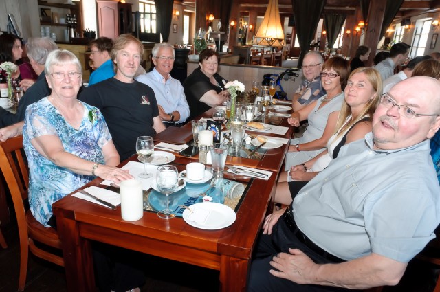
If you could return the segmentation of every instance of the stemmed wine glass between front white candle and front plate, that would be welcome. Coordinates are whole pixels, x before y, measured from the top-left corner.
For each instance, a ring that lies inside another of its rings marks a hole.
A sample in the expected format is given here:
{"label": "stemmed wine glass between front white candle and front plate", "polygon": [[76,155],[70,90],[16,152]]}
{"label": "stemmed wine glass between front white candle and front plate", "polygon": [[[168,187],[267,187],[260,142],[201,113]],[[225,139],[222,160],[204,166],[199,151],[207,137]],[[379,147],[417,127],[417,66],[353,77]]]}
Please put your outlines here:
{"label": "stemmed wine glass between front white candle and front plate", "polygon": [[168,206],[168,196],[177,188],[177,181],[179,181],[179,172],[175,166],[166,165],[157,168],[157,189],[166,196],[166,208],[157,212],[157,216],[162,219],[171,219],[176,216],[175,212],[170,210]]}

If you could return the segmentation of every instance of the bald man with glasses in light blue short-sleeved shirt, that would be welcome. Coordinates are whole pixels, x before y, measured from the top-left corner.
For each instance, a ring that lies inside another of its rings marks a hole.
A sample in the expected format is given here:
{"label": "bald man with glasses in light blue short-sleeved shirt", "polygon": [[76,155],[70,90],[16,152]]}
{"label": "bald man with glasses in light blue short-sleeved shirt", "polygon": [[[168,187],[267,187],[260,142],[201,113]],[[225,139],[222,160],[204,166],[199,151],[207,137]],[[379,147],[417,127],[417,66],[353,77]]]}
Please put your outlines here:
{"label": "bald man with glasses in light blue short-sleeved shirt", "polygon": [[429,155],[439,115],[434,78],[411,77],[382,95],[372,133],[342,147],[287,209],[265,218],[248,291],[397,284],[440,223]]}

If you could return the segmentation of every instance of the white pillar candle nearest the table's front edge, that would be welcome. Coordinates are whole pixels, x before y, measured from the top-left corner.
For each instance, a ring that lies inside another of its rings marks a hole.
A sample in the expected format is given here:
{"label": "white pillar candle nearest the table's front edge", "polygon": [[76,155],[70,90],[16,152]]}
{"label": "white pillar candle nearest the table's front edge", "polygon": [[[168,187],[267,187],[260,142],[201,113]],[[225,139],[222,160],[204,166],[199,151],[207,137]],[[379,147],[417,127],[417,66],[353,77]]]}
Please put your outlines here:
{"label": "white pillar candle nearest the table's front edge", "polygon": [[144,199],[142,183],[135,179],[127,179],[120,183],[121,213],[125,221],[136,221],[144,216]]}

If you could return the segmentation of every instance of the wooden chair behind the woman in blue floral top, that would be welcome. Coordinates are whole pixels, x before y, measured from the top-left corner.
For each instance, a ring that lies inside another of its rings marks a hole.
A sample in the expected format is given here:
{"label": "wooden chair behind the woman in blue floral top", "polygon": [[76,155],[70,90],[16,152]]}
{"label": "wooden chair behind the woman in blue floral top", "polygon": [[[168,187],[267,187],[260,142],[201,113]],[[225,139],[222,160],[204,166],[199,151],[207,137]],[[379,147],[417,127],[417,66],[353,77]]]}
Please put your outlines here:
{"label": "wooden chair behind the woman in blue floral top", "polygon": [[[23,291],[28,272],[29,249],[35,256],[43,258],[56,265],[64,267],[61,256],[52,254],[45,249],[37,247],[34,240],[48,247],[61,249],[61,240],[55,229],[46,228],[36,221],[30,210],[25,211],[25,203],[28,203],[29,175],[21,150],[23,149],[23,137],[8,139],[0,142],[0,168],[10,190],[17,214],[17,224],[20,236],[20,276],[19,291]],[[39,245],[41,246],[41,245]]]}

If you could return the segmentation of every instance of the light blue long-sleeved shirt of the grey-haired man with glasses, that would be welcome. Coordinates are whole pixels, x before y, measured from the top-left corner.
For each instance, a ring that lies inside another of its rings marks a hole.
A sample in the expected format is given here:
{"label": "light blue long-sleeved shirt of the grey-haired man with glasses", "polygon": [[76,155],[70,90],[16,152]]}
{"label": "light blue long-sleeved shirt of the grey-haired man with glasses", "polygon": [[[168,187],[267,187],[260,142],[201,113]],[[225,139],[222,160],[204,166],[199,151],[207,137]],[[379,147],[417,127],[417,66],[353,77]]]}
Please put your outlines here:
{"label": "light blue long-sleeved shirt of the grey-haired man with glasses", "polygon": [[185,122],[188,119],[190,106],[186,101],[184,87],[181,86],[179,80],[168,75],[168,79],[165,81],[164,76],[160,75],[156,68],[151,72],[137,76],[135,80],[153,89],[157,104],[162,106],[166,113],[173,111],[180,113],[180,120],[174,120],[173,122]]}

